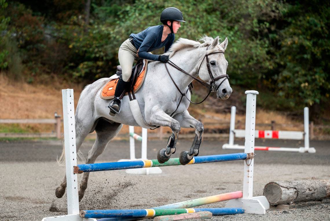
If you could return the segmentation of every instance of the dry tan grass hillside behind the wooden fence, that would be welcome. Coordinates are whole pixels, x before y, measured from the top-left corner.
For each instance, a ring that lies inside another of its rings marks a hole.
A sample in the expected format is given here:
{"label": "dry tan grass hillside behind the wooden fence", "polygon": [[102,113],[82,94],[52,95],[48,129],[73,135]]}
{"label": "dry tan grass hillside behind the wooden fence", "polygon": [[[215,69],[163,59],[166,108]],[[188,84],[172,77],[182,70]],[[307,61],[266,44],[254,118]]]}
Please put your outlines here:
{"label": "dry tan grass hillside behind the wooden fence", "polygon": [[[82,85],[67,85],[56,81],[51,85],[28,84],[25,82],[13,82],[4,75],[0,75],[0,119],[54,118],[54,112],[62,115],[61,89],[63,88],[74,89],[75,105],[77,105],[80,92],[83,88]],[[238,108],[238,110],[241,110],[238,111],[241,114],[237,114],[236,120],[240,120],[242,122],[241,125],[244,127],[244,106],[238,102],[239,95],[242,96],[240,92],[233,93],[231,98],[226,101],[220,101],[220,103],[215,98],[210,97],[207,103],[191,105],[189,107],[189,112],[196,119],[202,120],[206,129],[217,128],[217,123],[221,123],[221,127],[223,128],[229,128],[229,123],[226,122],[230,119],[230,112],[228,112],[230,106],[236,105],[239,107],[239,105],[241,105],[241,107]],[[243,96],[245,96],[244,93]],[[222,107],[221,105],[225,106]],[[224,112],[220,111],[221,108],[223,108]],[[269,127],[258,128],[258,123],[271,123],[271,120],[275,120],[276,123],[279,124],[298,123],[302,125],[302,122],[293,121],[289,117],[283,116],[281,113],[261,109],[257,111],[256,120],[257,129],[270,129]],[[26,132],[50,132],[53,129],[53,125],[45,124],[0,124],[0,132],[15,132],[20,130]],[[302,127],[286,129],[301,130]],[[167,128],[164,128],[164,131],[167,130]],[[127,133],[127,131],[128,129],[125,126],[121,133]],[[184,129],[182,133],[188,131],[193,132],[193,129]],[[154,133],[157,132],[157,130],[150,132]]]}

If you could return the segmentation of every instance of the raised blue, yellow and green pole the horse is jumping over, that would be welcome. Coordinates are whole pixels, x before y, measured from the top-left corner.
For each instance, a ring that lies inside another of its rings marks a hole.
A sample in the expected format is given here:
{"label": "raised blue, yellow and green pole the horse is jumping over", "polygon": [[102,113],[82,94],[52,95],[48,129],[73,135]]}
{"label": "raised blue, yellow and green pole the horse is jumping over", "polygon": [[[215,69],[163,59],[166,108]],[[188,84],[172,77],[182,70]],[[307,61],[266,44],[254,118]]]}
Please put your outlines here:
{"label": "raised blue, yellow and green pole the horse is jumping over", "polygon": [[[210,156],[198,156],[192,158],[188,164],[200,163],[213,163],[233,160],[246,160],[251,159],[250,153],[231,153],[219,154]],[[166,167],[181,165],[179,158],[169,159],[167,162],[160,164],[158,160],[137,160],[137,161],[124,161],[124,162],[111,162],[111,163],[96,163],[96,164],[79,164],[74,167],[74,173],[80,174],[83,172],[95,171],[109,171],[109,170],[125,170],[135,168],[149,168],[149,167]]]}

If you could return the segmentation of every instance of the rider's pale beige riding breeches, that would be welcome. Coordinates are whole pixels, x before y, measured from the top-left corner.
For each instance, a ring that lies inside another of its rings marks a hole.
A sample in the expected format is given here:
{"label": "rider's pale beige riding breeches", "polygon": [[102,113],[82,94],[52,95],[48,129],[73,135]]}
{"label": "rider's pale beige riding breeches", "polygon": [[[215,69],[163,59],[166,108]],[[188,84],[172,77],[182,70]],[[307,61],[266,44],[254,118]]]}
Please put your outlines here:
{"label": "rider's pale beige riding breeches", "polygon": [[131,78],[134,60],[139,58],[136,52],[137,49],[132,45],[129,39],[124,41],[119,47],[118,60],[122,69],[122,79],[126,82]]}

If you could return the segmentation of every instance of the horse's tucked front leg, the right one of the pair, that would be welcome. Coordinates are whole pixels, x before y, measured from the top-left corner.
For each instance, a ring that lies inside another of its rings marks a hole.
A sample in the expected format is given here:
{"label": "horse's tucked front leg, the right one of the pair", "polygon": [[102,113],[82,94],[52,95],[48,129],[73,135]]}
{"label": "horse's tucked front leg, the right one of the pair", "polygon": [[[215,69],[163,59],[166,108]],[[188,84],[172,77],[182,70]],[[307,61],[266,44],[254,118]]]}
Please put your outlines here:
{"label": "horse's tucked front leg, the right one of the pair", "polygon": [[194,156],[197,156],[199,153],[204,126],[202,122],[190,116],[187,110],[183,114],[175,116],[174,119],[177,119],[180,123],[180,126],[183,128],[195,128],[195,138],[189,151],[182,151],[180,153],[180,163],[182,165],[186,165]]}

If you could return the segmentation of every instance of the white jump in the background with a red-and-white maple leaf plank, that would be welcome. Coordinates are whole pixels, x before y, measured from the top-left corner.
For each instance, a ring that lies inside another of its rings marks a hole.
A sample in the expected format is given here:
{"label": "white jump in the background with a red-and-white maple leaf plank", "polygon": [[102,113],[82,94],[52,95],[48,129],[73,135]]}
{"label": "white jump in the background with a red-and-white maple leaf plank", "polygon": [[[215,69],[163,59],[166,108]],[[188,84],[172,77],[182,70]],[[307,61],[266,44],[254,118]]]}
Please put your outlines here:
{"label": "white jump in the background with a red-and-white maple leaf plank", "polygon": [[[255,146],[255,150],[268,151],[284,151],[284,152],[299,152],[299,153],[315,153],[314,147],[309,146],[309,110],[304,108],[304,131],[274,131],[274,130],[255,130],[255,138],[263,139],[286,139],[286,140],[305,140],[305,147],[269,147]],[[230,114],[230,132],[229,143],[223,144],[222,149],[244,149],[244,146],[234,144],[234,137],[244,138],[245,130],[235,129],[236,107],[231,107]],[[247,116],[248,117],[248,116]]]}

